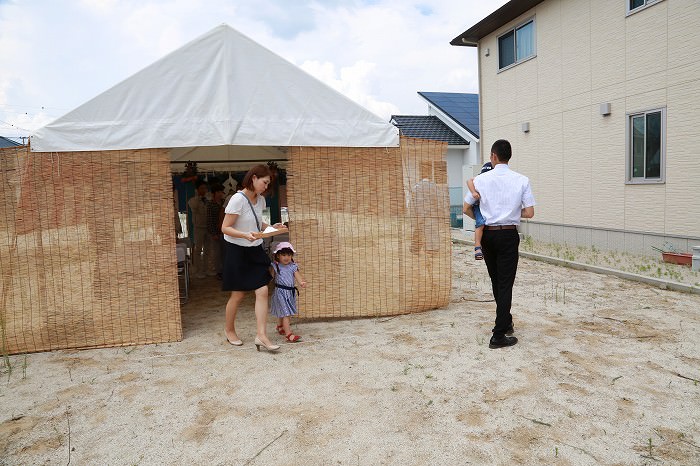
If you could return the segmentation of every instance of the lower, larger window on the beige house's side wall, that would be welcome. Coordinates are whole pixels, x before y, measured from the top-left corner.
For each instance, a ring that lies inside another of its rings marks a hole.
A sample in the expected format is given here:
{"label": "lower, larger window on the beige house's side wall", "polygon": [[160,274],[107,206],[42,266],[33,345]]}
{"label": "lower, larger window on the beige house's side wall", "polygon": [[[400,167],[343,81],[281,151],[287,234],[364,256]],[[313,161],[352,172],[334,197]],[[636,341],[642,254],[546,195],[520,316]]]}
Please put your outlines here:
{"label": "lower, larger window on the beige house's side wall", "polygon": [[666,109],[630,114],[627,122],[627,147],[628,182],[663,182],[666,162]]}

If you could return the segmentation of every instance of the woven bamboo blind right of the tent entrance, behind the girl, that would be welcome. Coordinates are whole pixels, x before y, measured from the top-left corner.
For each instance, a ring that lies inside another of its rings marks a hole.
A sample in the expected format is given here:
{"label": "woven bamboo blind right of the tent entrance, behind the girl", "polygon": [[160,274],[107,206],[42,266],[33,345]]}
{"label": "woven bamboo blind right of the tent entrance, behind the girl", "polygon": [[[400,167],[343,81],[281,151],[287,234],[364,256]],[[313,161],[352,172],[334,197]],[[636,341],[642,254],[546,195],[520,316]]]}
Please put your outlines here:
{"label": "woven bamboo blind right of the tent entrance, behind the girl", "polygon": [[294,147],[290,240],[309,282],[302,318],[388,316],[446,306],[451,279],[447,144]]}

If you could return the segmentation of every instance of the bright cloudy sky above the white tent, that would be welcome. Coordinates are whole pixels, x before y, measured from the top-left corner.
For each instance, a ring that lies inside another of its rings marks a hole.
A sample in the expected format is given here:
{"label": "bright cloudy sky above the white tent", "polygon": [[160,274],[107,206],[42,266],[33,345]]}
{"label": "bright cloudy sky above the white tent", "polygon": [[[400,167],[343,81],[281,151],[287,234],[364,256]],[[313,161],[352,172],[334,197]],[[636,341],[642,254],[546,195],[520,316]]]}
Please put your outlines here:
{"label": "bright cloudy sky above the white tent", "polygon": [[506,0],[0,0],[0,136],[28,136],[221,23],[378,116],[478,92],[450,40]]}

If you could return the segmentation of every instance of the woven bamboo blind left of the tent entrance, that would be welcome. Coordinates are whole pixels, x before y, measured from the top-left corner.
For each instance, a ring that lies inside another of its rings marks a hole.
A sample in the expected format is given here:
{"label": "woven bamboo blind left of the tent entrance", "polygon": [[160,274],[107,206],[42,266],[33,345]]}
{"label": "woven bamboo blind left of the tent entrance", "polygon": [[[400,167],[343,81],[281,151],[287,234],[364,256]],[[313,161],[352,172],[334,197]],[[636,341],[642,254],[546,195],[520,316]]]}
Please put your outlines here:
{"label": "woven bamboo blind left of the tent entrance", "polygon": [[0,150],[0,350],[182,339],[164,150]]}

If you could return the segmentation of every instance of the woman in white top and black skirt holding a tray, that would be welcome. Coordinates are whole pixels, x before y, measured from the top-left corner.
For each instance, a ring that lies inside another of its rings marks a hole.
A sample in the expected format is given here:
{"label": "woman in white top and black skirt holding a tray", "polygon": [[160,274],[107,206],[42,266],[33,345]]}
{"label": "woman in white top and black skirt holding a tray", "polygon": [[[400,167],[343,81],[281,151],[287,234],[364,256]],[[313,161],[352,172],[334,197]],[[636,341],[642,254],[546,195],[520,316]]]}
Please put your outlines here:
{"label": "woman in white top and black skirt holding a tray", "polygon": [[[226,340],[234,346],[243,345],[236,333],[236,313],[245,293],[254,291],[257,323],[255,345],[258,351],[260,346],[268,351],[280,348],[279,345],[273,345],[267,337],[267,284],[272,277],[269,271],[270,258],[262,248],[260,233],[269,226],[262,220],[265,209],[263,194],[272,178],[273,173],[267,165],[251,168],[243,178],[243,189],[234,194],[226,206],[221,226],[226,248],[222,289],[231,292],[226,303]],[[281,223],[273,226],[285,228]]]}

